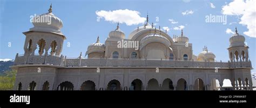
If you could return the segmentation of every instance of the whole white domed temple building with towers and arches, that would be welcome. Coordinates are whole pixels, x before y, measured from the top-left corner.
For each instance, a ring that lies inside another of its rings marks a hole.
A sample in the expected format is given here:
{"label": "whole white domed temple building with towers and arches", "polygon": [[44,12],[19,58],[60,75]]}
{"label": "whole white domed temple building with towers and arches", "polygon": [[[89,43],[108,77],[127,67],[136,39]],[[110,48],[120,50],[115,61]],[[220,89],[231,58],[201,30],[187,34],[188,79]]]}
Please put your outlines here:
{"label": "whole white domed temple building with towers and arches", "polygon": [[[35,22],[23,32],[24,54],[17,53],[12,66],[17,70],[14,90],[252,90],[249,47],[237,28],[226,46],[223,56],[230,60],[225,62],[217,62],[206,46],[194,55],[183,30],[171,37],[150,24],[148,17],[128,36],[118,24],[104,43],[96,37],[87,48],[87,58],[82,53],[69,58],[62,55],[66,39],[62,20],[52,14],[51,6],[41,16],[51,18],[51,24]],[[138,49],[119,48],[119,42],[132,46],[138,42]],[[223,87],[224,79],[232,86]]]}

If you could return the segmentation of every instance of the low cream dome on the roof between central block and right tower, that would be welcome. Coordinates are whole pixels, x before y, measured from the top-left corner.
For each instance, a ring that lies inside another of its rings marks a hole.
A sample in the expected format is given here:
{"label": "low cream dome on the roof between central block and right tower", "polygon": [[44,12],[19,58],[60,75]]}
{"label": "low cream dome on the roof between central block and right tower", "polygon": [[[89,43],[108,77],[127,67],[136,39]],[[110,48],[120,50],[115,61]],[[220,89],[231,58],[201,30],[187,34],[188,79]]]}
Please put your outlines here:
{"label": "low cream dome on the roof between central block and right tower", "polygon": [[214,62],[214,59],[215,59],[214,53],[212,53],[211,51],[208,51],[207,48],[205,50],[203,50],[202,52],[200,52],[197,56],[197,60],[199,60],[199,61],[210,60],[210,62]]}

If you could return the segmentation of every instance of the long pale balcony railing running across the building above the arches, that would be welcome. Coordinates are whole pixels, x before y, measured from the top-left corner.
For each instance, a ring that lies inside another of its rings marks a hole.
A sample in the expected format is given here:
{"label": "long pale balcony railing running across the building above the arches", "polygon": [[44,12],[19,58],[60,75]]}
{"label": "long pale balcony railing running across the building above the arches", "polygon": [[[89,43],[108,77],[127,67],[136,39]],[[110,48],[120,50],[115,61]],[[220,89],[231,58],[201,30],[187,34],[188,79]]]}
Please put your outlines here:
{"label": "long pale balcony railing running across the building above the arches", "polygon": [[99,67],[99,66],[147,66],[147,67],[190,67],[190,68],[251,68],[248,62],[198,62],[193,60],[167,59],[112,59],[112,58],[66,58],[50,55],[16,55],[15,65],[49,64],[64,67]]}

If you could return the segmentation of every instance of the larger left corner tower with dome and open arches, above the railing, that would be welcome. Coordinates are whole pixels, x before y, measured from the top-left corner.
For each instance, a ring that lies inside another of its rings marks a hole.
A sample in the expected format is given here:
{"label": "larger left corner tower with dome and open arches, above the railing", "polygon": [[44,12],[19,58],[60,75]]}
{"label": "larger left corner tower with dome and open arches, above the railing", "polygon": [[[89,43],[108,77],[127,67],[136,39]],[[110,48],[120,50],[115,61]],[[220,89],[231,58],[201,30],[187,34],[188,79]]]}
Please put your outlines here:
{"label": "larger left corner tower with dome and open arches, above the railing", "polygon": [[[66,37],[62,34],[62,20],[52,14],[52,6],[49,12],[32,18],[33,28],[23,32],[26,36],[24,43],[24,55],[48,55],[59,56],[62,52],[63,42]],[[35,52],[38,50],[38,52]]]}

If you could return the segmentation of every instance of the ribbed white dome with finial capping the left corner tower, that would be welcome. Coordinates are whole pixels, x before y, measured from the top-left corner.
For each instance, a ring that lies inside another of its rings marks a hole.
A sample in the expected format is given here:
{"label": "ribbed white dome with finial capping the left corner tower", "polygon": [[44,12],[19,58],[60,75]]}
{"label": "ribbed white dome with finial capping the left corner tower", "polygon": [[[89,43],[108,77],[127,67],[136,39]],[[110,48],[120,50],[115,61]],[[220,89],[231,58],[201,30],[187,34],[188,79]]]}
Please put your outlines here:
{"label": "ribbed white dome with finial capping the left corner tower", "polygon": [[[63,27],[62,20],[52,14],[52,6],[50,6],[49,12],[33,18],[34,27],[30,31],[45,31],[62,33],[60,29]],[[50,22],[48,22],[50,21]]]}

